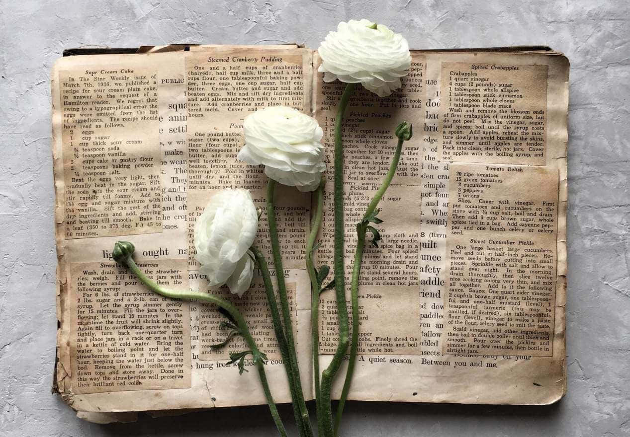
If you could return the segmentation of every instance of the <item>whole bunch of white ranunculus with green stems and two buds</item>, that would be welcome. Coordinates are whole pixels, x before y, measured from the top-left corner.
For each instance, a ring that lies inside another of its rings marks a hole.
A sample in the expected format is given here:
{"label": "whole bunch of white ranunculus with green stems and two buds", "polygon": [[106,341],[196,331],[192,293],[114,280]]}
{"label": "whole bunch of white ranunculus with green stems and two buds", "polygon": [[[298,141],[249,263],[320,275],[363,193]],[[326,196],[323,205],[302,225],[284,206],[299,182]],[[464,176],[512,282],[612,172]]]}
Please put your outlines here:
{"label": "whole bunch of white ranunculus with green stems and two buds", "polygon": [[[352,296],[352,332],[348,323],[346,307],[344,253],[344,209],[343,209],[343,143],[341,133],[343,115],[352,98],[356,84],[379,97],[389,96],[401,87],[411,65],[411,54],[407,41],[383,25],[377,25],[367,19],[350,20],[340,23],[337,31],[331,31],[319,47],[321,65],[319,72],[324,73],[324,80],[340,80],[347,86],[338,105],[335,123],[335,156],[333,169],[334,216],[335,216],[335,257],[334,279],[323,285],[330,268],[322,265],[317,268],[312,260],[316,250],[316,239],[323,218],[324,190],[324,148],[321,144],[323,130],[316,119],[284,106],[272,106],[249,114],[244,119],[244,146],[238,159],[251,165],[264,165],[269,178],[266,201],[266,214],[273,264],[277,272],[282,272],[282,256],[278,240],[278,228],[275,218],[275,187],[277,183],[296,187],[299,191],[316,191],[316,211],[313,214],[311,234],[306,245],[307,272],[311,279],[312,293],[312,365],[315,375],[316,411],[319,435],[332,437],[338,434],[341,414],[352,383],[352,375],[357,357],[358,344],[358,279],[367,233],[372,235],[372,244],[381,239],[375,224],[382,223],[377,217],[377,206],[391,183],[401,156],[404,141],[410,140],[411,124],[398,125],[394,135],[398,144],[392,157],[389,171],[382,180],[374,198],[370,202],[362,220],[357,223],[358,243],[353,263]],[[249,289],[254,268],[257,267],[263,277],[266,297],[272,314],[273,327],[277,337],[280,354],[287,370],[287,380],[293,400],[295,421],[302,437],[312,437],[313,431],[309,412],[302,394],[301,379],[297,366],[292,320],[289,311],[287,287],[283,275],[276,275],[278,299],[273,287],[270,272],[263,254],[253,246],[258,231],[261,212],[256,210],[251,195],[244,189],[224,189],[209,199],[203,214],[197,219],[194,230],[195,258],[200,263],[200,270],[205,274],[210,287],[227,285],[232,294],[243,296]],[[237,363],[239,372],[244,372],[244,360],[251,355],[258,370],[273,420],[280,435],[287,432],[273,402],[272,393],[265,376],[266,357],[258,349],[249,333],[243,316],[229,301],[215,296],[212,292],[193,292],[190,290],[167,290],[148,279],[134,262],[134,245],[128,241],[118,241],[113,250],[116,262],[129,268],[149,289],[162,296],[173,299],[197,299],[210,302],[219,307],[226,316],[223,326],[229,328],[229,334],[222,343],[214,345],[221,348],[235,335],[243,336],[248,350],[231,353],[231,363]],[[339,341],[331,363],[322,372],[318,363],[318,318],[319,294],[323,289],[335,288],[336,306],[339,314]],[[331,409],[331,388],[341,366],[343,357],[348,353],[349,363],[345,376],[341,399],[335,418]]]}

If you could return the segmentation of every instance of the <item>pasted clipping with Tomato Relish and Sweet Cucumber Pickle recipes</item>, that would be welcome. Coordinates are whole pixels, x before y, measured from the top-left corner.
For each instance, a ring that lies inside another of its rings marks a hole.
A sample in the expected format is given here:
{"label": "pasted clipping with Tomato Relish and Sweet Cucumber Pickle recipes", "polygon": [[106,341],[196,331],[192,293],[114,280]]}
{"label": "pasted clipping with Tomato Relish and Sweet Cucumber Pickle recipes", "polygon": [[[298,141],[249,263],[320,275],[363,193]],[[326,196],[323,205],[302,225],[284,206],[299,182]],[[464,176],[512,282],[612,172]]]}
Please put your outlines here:
{"label": "pasted clipping with Tomato Relish and Sweet Cucumber Pickle recipes", "polygon": [[449,180],[444,353],[551,357],[558,171],[457,164]]}

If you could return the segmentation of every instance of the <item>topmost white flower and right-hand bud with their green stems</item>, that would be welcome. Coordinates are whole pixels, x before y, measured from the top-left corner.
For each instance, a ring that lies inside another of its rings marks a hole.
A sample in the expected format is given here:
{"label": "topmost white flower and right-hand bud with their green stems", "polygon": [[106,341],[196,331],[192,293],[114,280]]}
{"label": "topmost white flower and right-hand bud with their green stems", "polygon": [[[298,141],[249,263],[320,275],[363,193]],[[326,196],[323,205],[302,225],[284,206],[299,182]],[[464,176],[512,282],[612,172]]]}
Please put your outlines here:
{"label": "topmost white flower and right-hand bud with their green stems", "polygon": [[[365,48],[369,47],[369,50]],[[377,25],[367,19],[350,20],[340,23],[337,31],[332,31],[321,43],[319,50],[321,65],[319,71],[324,73],[324,81],[339,79],[347,85],[337,107],[335,121],[335,296],[339,320],[339,340],[328,368],[322,372],[320,396],[318,401],[318,425],[321,435],[333,437],[338,434],[341,414],[350,390],[353,370],[357,356],[358,344],[358,274],[365,246],[367,231],[372,233],[372,243],[378,244],[381,238],[379,231],[370,223],[378,224],[376,206],[391,183],[400,158],[403,141],[411,139],[410,123],[401,123],[396,128],[398,147],[394,154],[389,172],[370,202],[364,218],[357,224],[358,245],[355,253],[352,279],[352,341],[348,338],[348,310],[345,300],[345,267],[344,267],[344,211],[343,211],[343,114],[346,111],[355,84],[360,83],[365,89],[379,97],[389,96],[402,86],[401,78],[408,74],[411,67],[411,53],[403,36],[393,33],[383,25]],[[333,424],[331,411],[331,389],[336,373],[350,343],[350,363],[343,387],[341,400]]]}

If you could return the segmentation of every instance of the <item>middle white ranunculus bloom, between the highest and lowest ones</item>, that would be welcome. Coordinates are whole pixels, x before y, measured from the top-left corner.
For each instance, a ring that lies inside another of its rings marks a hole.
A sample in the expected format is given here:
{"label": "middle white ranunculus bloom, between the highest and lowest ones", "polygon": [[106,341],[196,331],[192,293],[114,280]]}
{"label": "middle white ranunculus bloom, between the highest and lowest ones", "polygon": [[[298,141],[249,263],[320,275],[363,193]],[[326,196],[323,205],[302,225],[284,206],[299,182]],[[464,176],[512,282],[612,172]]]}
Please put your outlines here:
{"label": "middle white ranunculus bloom, between the highest and lowest ones", "polygon": [[326,170],[316,119],[287,106],[268,106],[243,122],[245,145],[237,159],[265,165],[265,174],[280,184],[313,191]]}

